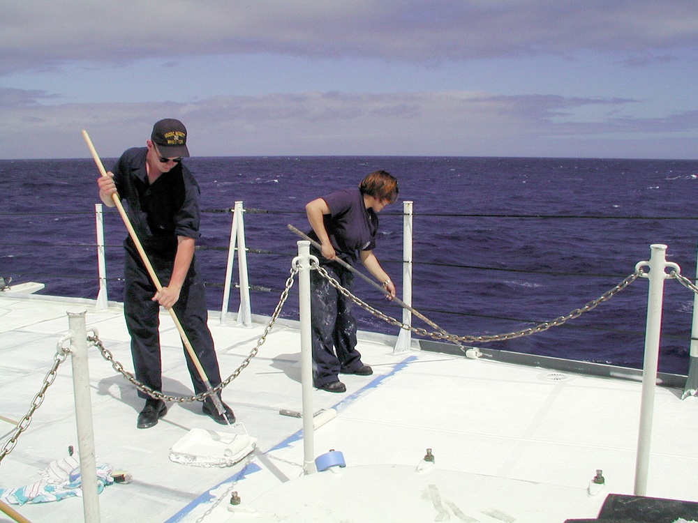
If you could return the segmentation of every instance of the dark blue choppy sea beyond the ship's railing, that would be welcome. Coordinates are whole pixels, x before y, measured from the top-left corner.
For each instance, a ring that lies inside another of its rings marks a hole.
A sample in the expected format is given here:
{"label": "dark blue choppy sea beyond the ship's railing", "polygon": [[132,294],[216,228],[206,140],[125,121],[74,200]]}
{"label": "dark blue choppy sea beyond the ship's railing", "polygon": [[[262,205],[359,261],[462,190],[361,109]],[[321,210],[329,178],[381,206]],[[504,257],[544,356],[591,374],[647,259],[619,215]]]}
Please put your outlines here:
{"label": "dark blue choppy sea beyond the ship's railing", "polygon": [[[109,169],[114,159],[105,159]],[[519,331],[580,308],[649,259],[651,243],[695,278],[698,161],[559,158],[191,158],[202,190],[197,256],[210,310],[221,310],[232,214],[241,200],[252,310],[271,314],[288,278],[304,206],[387,169],[400,201],[380,214],[376,255],[399,287],[402,203],[414,202],[413,306],[456,335]],[[96,298],[94,162],[0,160],[0,276],[46,285],[40,294]],[[121,301],[119,214],[105,209],[109,299]],[[237,261],[236,261],[237,267]],[[237,281],[237,275],[235,276]],[[641,367],[648,280],[544,333],[484,345],[545,356]],[[268,289],[268,290],[267,290]],[[297,285],[282,316],[297,318]],[[660,370],[686,374],[692,292],[667,280]],[[393,317],[364,282],[356,294]],[[232,291],[229,310],[237,311]],[[396,333],[358,311],[360,328]],[[0,321],[3,321],[0,319]],[[425,326],[415,319],[416,326]]]}

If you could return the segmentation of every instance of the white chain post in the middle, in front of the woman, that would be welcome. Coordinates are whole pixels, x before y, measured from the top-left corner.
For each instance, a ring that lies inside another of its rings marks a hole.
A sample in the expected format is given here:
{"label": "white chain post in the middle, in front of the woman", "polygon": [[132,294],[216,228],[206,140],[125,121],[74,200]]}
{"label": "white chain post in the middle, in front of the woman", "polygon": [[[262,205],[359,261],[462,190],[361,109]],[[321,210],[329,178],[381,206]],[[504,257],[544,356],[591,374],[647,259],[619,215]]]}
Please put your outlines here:
{"label": "white chain post in the middle, in front of the woman", "polygon": [[[317,472],[315,468],[315,435],[313,424],[313,342],[311,340],[310,301],[310,242],[297,242],[298,257],[294,259],[298,271],[298,312],[301,328],[301,384],[303,395],[303,472]],[[317,261],[317,259],[315,259]]]}

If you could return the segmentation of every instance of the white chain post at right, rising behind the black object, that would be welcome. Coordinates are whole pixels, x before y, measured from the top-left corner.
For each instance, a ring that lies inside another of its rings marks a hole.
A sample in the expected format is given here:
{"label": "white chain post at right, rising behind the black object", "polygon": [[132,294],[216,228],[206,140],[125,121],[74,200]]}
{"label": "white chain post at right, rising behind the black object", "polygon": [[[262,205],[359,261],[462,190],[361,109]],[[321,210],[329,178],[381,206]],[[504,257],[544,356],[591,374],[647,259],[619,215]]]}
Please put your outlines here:
{"label": "white chain post at right, rising behind the black object", "polygon": [[645,353],[642,367],[642,398],[640,404],[640,421],[637,437],[637,460],[635,463],[634,494],[645,496],[647,492],[647,474],[649,469],[650,444],[652,437],[652,418],[654,414],[655,389],[659,367],[660,335],[662,333],[662,303],[664,301],[664,280],[671,278],[664,272],[667,267],[681,273],[681,268],[667,262],[667,245],[654,243],[650,245],[650,261],[640,261],[635,270],[648,266],[649,272],[642,273],[648,278],[647,321],[645,328]]}

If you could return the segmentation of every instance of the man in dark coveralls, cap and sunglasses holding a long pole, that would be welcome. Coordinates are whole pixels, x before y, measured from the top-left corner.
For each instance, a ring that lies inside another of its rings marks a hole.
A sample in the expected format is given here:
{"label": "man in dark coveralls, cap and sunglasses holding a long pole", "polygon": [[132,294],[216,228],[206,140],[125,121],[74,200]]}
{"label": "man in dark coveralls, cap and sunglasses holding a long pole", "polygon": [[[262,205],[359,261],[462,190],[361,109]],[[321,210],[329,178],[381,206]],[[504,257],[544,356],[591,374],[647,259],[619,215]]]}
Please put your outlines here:
{"label": "man in dark coveralls, cap and sunglasses holding a long pole", "polygon": [[[162,391],[162,363],[159,310],[174,308],[188,340],[198,356],[211,386],[221,383],[214,342],[207,326],[204,284],[194,255],[200,236],[200,189],[189,169],[181,163],[188,157],[186,128],[179,120],[158,121],[145,147],[128,149],[108,176],[98,179],[99,197],[113,207],[112,195],[118,193],[126,202],[133,224],[148,258],[161,281],[157,291],[135,244],[129,236],[124,241],[124,315],[131,335],[131,355],[138,381]],[[207,390],[191,358],[185,351],[194,391]],[[168,407],[138,391],[145,407],[138,415],[138,428],[156,425]],[[218,423],[233,423],[235,416],[223,404],[225,416],[218,414],[213,400],[207,397],[204,414]],[[225,418],[228,418],[226,421]]]}

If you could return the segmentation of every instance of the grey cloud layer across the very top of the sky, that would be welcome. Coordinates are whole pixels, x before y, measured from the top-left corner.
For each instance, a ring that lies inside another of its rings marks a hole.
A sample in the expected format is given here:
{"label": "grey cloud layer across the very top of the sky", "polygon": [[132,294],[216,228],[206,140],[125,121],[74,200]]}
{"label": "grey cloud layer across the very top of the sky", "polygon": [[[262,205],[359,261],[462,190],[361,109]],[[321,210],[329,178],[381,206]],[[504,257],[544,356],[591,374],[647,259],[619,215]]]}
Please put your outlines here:
{"label": "grey cloud layer across the very top of the sky", "polygon": [[274,53],[414,62],[695,46],[684,0],[26,0],[3,6],[0,74],[74,61]]}

